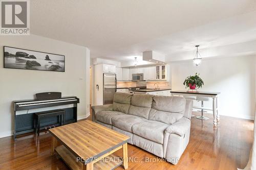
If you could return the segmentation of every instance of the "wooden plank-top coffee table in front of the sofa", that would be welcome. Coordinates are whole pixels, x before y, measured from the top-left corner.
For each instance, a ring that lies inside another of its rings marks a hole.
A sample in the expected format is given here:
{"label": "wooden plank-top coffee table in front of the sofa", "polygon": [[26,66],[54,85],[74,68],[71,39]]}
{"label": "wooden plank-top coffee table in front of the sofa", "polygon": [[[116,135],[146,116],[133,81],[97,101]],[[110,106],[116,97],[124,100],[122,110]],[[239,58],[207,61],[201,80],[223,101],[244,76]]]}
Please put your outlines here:
{"label": "wooden plank-top coffee table in front of the sofa", "polygon": [[[128,168],[127,140],[129,136],[101,126],[91,120],[56,127],[52,134],[52,150],[71,169],[114,169],[123,164]],[[113,155],[123,149],[123,158]]]}

